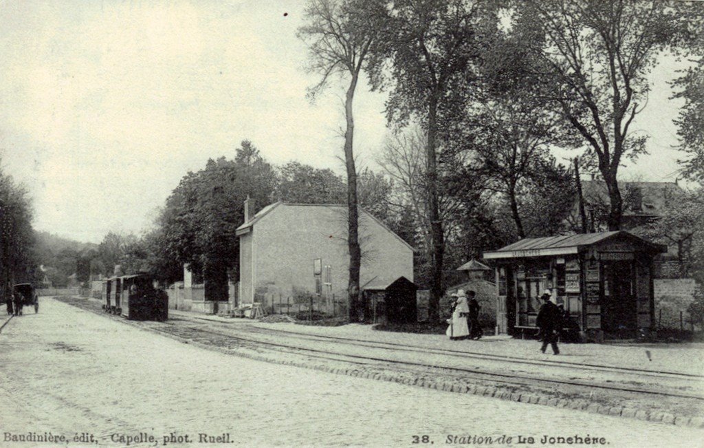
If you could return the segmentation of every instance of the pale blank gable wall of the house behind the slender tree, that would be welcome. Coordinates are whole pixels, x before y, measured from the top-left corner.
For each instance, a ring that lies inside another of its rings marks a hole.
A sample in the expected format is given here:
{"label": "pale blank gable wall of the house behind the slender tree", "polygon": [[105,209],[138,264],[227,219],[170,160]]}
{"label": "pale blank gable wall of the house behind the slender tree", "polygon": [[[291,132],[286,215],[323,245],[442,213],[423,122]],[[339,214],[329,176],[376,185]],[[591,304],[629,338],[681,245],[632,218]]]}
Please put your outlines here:
{"label": "pale blank gable wall of the house behind the slender tree", "polygon": [[[332,289],[326,292],[324,286],[324,294],[344,297],[349,266],[346,225],[343,206],[277,206],[253,226],[254,290],[244,287],[248,273],[241,268],[243,303],[256,292],[283,297],[292,297],[294,290],[315,292],[314,259],[322,260],[323,280],[325,266],[331,266]],[[251,259],[244,240],[249,235],[240,242],[241,266]],[[401,275],[413,281],[413,250],[366,212],[360,214],[360,243],[360,285],[375,277],[395,280]]]}

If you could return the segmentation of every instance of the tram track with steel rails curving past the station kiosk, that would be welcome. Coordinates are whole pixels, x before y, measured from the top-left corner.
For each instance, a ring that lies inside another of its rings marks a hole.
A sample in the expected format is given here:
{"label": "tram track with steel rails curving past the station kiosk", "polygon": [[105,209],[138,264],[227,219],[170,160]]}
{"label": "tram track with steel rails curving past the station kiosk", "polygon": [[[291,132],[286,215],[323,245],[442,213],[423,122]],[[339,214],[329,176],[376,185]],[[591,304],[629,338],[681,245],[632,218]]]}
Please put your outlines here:
{"label": "tram track with steel rails curving past the station kiosk", "polygon": [[[65,301],[65,300],[64,300]],[[124,318],[112,316],[103,313],[95,304],[86,302],[65,301],[65,303],[79,306],[87,311],[98,313],[106,318],[113,318],[118,321],[124,321]],[[628,385],[615,384],[603,381],[585,381],[576,378],[546,378],[543,373],[536,375],[527,373],[515,373],[508,370],[491,371],[481,367],[463,368],[459,366],[451,366],[443,362],[424,362],[393,359],[391,356],[384,354],[372,354],[370,351],[384,351],[388,354],[396,354],[398,352],[416,352],[417,354],[437,355],[443,354],[453,359],[471,359],[479,361],[496,361],[503,363],[511,363],[512,365],[524,365],[531,367],[548,367],[565,369],[569,368],[572,371],[598,371],[601,373],[613,373],[620,375],[636,375],[647,376],[648,378],[658,378],[660,380],[679,380],[684,382],[698,382],[700,385],[703,375],[693,375],[687,373],[677,373],[669,371],[648,371],[645,369],[636,368],[612,368],[609,366],[599,366],[595,364],[572,363],[569,361],[548,361],[548,360],[527,360],[517,356],[489,355],[477,354],[465,351],[455,351],[451,349],[428,349],[427,347],[408,346],[405,344],[395,344],[387,342],[376,342],[368,340],[354,340],[346,337],[327,337],[317,335],[301,335],[298,332],[289,332],[286,330],[264,329],[257,328],[251,325],[246,327],[246,330],[234,328],[228,323],[218,323],[202,318],[172,318],[163,323],[157,322],[132,322],[133,325],[143,328],[149,328],[156,332],[161,332],[165,335],[173,335],[185,340],[193,340],[201,344],[224,347],[228,349],[237,349],[239,347],[251,349],[267,349],[270,351],[283,351],[290,354],[302,354],[313,359],[325,359],[332,361],[344,361],[365,368],[390,368],[394,371],[405,371],[410,373],[421,373],[423,375],[432,375],[441,373],[450,375],[456,378],[469,380],[481,380],[486,382],[496,382],[504,385],[515,386],[530,386],[530,387],[547,387],[556,389],[560,387],[576,387],[586,391],[598,392],[620,392],[624,394],[647,394],[648,396],[672,398],[672,399],[691,399],[697,403],[704,401],[704,395],[696,392],[688,392],[685,390],[667,390],[660,382],[655,382],[652,387],[644,387],[643,385]],[[280,335],[287,335],[288,340],[296,339],[298,342],[314,342],[316,344],[335,344],[336,348],[340,347],[363,347],[369,351],[366,354],[344,353],[335,349],[326,349],[322,347],[303,347],[301,344],[287,343],[280,341]],[[267,340],[267,338],[276,338],[278,340]],[[591,393],[591,392],[589,392]]]}

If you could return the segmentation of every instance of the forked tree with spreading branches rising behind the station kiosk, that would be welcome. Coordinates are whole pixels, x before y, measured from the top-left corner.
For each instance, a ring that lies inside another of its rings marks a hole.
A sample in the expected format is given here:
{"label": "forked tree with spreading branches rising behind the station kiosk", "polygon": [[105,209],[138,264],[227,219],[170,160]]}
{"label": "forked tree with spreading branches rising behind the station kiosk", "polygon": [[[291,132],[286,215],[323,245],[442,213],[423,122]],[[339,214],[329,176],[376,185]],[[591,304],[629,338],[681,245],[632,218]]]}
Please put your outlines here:
{"label": "forked tree with spreading branches rising behind the station kiosk", "polygon": [[[685,2],[682,2],[683,4]],[[656,57],[677,46],[686,18],[677,2],[661,0],[528,0],[513,30],[541,61],[562,116],[596,155],[608,188],[608,227],[620,228],[617,182],[625,156],[646,151],[646,137],[629,132],[648,99]]]}

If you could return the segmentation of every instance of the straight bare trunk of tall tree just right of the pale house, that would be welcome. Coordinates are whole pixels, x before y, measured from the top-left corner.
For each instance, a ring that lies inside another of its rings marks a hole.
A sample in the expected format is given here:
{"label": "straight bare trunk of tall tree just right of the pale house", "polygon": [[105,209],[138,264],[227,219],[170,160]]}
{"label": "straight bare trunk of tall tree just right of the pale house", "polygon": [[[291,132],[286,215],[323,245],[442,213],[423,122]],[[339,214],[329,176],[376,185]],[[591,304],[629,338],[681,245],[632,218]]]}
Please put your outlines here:
{"label": "straight bare trunk of tall tree just right of the pale house", "polygon": [[445,254],[445,241],[443,225],[440,220],[438,173],[436,162],[437,138],[437,103],[438,95],[434,93],[429,100],[428,108],[428,139],[425,147],[426,176],[427,176],[427,201],[428,220],[430,223],[432,278],[430,285],[430,300],[428,303],[428,318],[430,322],[439,321],[440,297],[444,294],[442,285],[443,257]]}

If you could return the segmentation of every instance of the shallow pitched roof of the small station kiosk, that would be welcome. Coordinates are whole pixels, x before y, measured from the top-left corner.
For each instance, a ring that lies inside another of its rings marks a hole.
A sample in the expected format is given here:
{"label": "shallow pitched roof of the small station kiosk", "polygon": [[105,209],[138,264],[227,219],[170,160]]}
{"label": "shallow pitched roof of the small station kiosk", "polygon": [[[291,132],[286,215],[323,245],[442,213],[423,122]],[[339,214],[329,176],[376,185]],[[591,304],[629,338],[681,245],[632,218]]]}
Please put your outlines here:
{"label": "shallow pitched roof of the small station kiosk", "polygon": [[662,244],[653,244],[646,239],[636,237],[624,230],[612,232],[580,233],[577,235],[558,235],[555,237],[524,238],[496,251],[484,252],[485,259],[526,258],[529,256],[546,256],[577,254],[579,249],[603,242],[616,236],[631,239],[653,251],[664,251]]}

